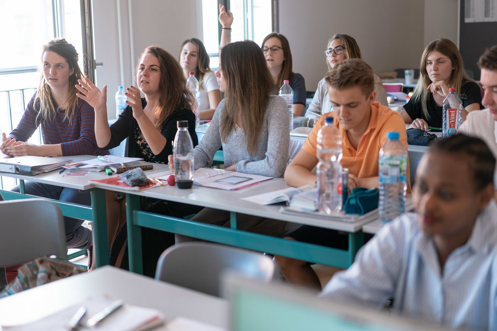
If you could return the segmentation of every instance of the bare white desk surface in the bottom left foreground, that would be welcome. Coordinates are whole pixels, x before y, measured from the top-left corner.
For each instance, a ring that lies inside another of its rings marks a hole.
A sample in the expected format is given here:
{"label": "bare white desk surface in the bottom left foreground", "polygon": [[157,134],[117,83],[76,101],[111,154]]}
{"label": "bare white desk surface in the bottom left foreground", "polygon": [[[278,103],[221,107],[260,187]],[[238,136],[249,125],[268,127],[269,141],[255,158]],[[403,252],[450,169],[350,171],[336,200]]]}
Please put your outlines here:
{"label": "bare white desk surface in the bottom left foreground", "polygon": [[0,299],[0,325],[33,322],[103,294],[125,303],[158,309],[166,321],[182,316],[228,330],[228,302],[225,299],[112,266]]}

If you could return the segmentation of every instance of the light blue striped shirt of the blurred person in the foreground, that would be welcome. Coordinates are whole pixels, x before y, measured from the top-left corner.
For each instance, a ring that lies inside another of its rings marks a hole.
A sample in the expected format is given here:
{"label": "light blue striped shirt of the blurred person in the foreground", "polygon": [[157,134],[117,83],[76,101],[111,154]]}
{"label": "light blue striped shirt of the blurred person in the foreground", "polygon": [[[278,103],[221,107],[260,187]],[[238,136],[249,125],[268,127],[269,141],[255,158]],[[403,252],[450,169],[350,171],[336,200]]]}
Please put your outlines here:
{"label": "light blue striped shirt of the blurred person in the foreground", "polygon": [[433,240],[417,226],[417,215],[385,225],[347,270],[336,273],[322,297],[383,307],[394,298],[403,315],[450,328],[497,328],[497,205],[479,214],[468,242],[440,270]]}

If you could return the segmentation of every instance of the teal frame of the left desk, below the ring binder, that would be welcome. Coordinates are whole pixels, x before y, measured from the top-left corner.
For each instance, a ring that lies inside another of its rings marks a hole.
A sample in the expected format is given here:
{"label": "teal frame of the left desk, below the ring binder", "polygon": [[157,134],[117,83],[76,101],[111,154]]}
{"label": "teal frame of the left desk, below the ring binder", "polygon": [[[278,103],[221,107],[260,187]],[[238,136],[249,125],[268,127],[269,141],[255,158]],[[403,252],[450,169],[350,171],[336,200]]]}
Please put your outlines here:
{"label": "teal frame of the left desk, below the ring binder", "polygon": [[[33,178],[34,179],[34,178]],[[29,196],[24,193],[24,180],[19,179],[21,193],[0,190],[0,195],[4,200],[40,198]],[[64,216],[93,221],[93,238],[95,247],[96,266],[109,264],[109,243],[107,239],[107,214],[105,207],[105,191],[98,188],[87,190],[91,194],[91,206],[69,203],[54,199],[46,199],[55,202],[62,210]],[[86,192],[86,191],[84,191]],[[41,198],[44,199],[44,198]],[[72,254],[70,259],[83,255],[77,252]]]}

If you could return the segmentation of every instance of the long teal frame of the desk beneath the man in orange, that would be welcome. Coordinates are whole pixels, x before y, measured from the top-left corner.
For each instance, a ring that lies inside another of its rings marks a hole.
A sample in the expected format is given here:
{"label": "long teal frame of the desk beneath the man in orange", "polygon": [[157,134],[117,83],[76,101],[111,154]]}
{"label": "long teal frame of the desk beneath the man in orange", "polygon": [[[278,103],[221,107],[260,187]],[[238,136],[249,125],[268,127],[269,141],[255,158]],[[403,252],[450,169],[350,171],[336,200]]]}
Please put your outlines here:
{"label": "long teal frame of the desk beneath the man in orange", "polygon": [[231,212],[231,227],[227,228],[140,211],[140,196],[133,192],[126,192],[126,214],[129,266],[137,273],[143,273],[142,227],[340,268],[353,263],[364,243],[361,230],[348,234],[349,247],[344,251],[237,230],[235,212]]}

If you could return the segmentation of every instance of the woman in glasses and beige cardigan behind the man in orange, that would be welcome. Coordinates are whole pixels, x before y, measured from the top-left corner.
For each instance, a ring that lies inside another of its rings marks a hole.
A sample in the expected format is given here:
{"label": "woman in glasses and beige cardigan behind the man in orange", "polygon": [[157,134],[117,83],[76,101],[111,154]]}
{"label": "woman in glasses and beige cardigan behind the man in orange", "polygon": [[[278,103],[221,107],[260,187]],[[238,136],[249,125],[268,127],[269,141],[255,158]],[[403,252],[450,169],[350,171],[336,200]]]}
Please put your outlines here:
{"label": "woman in glasses and beige cardigan behind the man in orange", "polygon": [[[354,38],[346,34],[335,34],[328,41],[328,49],[325,51],[327,56],[326,64],[328,69],[336,66],[337,63],[345,59],[360,59],[361,51]],[[384,106],[388,106],[387,93],[385,87],[381,83],[380,77],[374,75],[374,91],[376,92],[376,99]],[[310,119],[309,125],[313,126],[314,121],[317,120],[322,114],[333,111],[330,98],[328,97],[328,88],[326,87],[325,78],[321,79],[318,83],[318,88],[314,94],[314,98],[309,105],[306,112],[306,117]]]}

